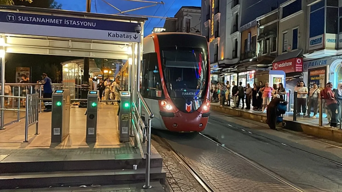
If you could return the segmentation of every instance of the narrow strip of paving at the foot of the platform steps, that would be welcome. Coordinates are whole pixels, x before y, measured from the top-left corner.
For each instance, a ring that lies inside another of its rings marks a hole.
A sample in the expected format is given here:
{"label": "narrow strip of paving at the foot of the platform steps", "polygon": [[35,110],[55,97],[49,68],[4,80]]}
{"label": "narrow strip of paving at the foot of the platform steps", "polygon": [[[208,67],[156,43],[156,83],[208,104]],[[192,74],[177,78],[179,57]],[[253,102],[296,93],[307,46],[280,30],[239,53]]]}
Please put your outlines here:
{"label": "narrow strip of paving at the foot of the platform steps", "polygon": [[0,190],[0,192],[163,192],[165,188],[159,182],[151,182],[151,189],[143,189],[144,183],[122,184],[115,186],[82,186],[82,187],[59,187],[43,189],[13,189]]}

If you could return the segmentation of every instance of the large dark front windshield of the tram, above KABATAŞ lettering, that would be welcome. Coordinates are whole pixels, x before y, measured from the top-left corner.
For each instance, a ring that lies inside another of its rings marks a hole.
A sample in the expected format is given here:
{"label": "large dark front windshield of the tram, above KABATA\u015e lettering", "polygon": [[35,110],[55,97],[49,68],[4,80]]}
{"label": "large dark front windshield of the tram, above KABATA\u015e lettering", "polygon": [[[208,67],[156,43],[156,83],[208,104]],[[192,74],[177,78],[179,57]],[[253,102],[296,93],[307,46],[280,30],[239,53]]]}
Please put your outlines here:
{"label": "large dark front windshield of the tram, above KABATA\u015e lettering", "polygon": [[189,47],[162,49],[162,68],[171,98],[202,99],[206,95],[208,50]]}

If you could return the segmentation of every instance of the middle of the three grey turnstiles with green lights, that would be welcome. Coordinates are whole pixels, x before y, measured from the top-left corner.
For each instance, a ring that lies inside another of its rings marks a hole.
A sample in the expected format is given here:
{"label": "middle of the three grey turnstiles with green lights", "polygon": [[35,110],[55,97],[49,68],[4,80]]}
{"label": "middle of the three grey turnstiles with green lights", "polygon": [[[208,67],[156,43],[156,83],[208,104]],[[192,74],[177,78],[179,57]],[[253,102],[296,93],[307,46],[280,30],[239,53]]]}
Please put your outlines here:
{"label": "middle of the three grey turnstiles with green lights", "polygon": [[96,142],[98,91],[88,91],[86,142]]}

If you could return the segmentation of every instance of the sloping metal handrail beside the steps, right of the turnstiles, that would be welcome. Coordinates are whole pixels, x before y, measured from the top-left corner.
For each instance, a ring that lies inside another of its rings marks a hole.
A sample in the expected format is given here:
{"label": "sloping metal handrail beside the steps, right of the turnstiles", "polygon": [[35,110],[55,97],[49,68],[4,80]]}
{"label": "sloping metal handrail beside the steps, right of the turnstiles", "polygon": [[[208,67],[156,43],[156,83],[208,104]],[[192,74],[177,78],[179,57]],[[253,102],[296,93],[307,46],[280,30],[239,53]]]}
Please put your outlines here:
{"label": "sloping metal handrail beside the steps, right of the turnstiles", "polygon": [[[140,153],[142,154],[142,158],[144,158],[142,143],[146,142],[146,176],[145,176],[145,189],[149,189],[150,186],[150,154],[151,154],[151,122],[154,117],[152,111],[147,106],[146,101],[143,96],[136,92],[137,94],[137,104],[132,102],[132,125],[134,129],[135,139],[134,139],[134,147],[139,148]],[[145,125],[144,121],[141,118],[141,110],[144,110],[148,114],[147,125]]]}

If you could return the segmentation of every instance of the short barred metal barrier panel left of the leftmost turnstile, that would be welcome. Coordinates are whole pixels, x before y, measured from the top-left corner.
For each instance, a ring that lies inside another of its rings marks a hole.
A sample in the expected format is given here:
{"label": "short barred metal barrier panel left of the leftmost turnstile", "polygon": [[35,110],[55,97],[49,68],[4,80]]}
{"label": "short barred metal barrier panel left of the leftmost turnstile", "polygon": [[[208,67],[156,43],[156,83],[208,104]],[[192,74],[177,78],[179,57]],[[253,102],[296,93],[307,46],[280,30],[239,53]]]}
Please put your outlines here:
{"label": "short barred metal barrier panel left of the leftmost turnstile", "polygon": [[36,125],[36,133],[38,135],[38,102],[39,102],[39,94],[27,94],[26,95],[26,112],[25,112],[25,140],[24,142],[28,142],[28,127],[31,125]]}

